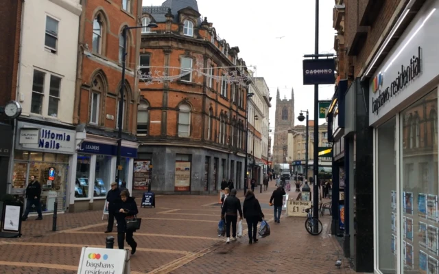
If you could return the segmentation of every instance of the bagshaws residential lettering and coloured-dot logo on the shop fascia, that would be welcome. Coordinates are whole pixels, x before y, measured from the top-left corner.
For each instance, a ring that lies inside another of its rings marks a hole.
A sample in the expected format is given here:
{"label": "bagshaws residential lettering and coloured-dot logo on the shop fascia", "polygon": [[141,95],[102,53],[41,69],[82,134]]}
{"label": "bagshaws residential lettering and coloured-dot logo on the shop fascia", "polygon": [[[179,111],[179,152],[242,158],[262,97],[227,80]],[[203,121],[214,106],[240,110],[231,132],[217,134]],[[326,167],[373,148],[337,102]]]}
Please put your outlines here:
{"label": "bagshaws residential lettering and coloured-dot logo on the shop fascia", "polygon": [[386,85],[383,85],[385,78],[381,72],[372,80],[372,113],[378,115],[379,110],[385,106],[385,104],[393,100],[393,98],[396,98],[401,91],[420,76],[422,71],[420,50],[420,47],[418,47],[416,55],[413,55],[410,60],[407,60],[405,65],[401,65],[401,69],[396,78],[391,79],[390,82],[386,82]]}

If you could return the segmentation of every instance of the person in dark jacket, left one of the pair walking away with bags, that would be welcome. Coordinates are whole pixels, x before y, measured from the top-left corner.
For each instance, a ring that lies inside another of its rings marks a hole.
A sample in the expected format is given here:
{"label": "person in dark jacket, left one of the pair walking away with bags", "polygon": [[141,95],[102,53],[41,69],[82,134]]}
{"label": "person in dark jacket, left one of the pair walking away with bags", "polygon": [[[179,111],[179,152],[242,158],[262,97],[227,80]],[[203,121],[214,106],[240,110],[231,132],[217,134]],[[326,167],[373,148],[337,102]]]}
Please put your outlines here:
{"label": "person in dark jacket, left one of the pair walking away with bags", "polygon": [[230,242],[230,225],[232,225],[232,240],[236,240],[236,223],[238,221],[238,212],[239,212],[239,220],[242,220],[242,210],[241,210],[241,201],[236,197],[236,190],[231,190],[230,195],[224,200],[224,204],[222,205],[221,218],[224,219],[226,217],[226,244]]}

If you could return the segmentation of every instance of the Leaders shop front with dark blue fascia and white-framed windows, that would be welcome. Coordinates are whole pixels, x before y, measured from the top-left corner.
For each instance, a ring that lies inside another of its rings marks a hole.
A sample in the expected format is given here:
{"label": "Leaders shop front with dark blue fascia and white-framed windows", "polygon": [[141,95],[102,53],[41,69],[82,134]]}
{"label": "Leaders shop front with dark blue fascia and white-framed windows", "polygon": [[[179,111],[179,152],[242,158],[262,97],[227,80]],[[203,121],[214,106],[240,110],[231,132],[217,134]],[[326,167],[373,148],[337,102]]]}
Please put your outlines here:
{"label": "Leaders shop front with dark blue fascia and white-framed windows", "polygon": [[[119,185],[126,182],[132,190],[134,158],[139,144],[122,141],[121,176]],[[117,144],[115,139],[88,135],[79,145],[73,163],[74,183],[71,185],[69,212],[104,209],[110,183],[116,180]],[[135,171],[135,170],[134,170]]]}

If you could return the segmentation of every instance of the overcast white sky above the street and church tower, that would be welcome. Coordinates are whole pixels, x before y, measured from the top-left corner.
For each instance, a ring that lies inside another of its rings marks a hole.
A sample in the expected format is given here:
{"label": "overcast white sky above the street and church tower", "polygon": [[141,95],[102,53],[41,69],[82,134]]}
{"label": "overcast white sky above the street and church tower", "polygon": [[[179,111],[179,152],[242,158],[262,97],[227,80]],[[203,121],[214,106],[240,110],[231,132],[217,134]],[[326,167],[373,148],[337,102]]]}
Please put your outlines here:
{"label": "overcast white sky above the street and church tower", "polygon": [[[143,0],[143,5],[161,5],[165,0]],[[334,1],[320,0],[319,53],[334,53]],[[295,115],[309,110],[313,119],[314,87],[304,86],[302,60],[314,53],[315,1],[305,0],[198,0],[202,17],[213,23],[219,37],[230,47],[239,47],[246,65],[257,67],[256,76],[265,78],[272,96],[270,129],[274,133],[276,89],[281,98],[291,98],[294,88]],[[281,39],[276,37],[285,36]],[[333,84],[320,85],[319,100],[331,99]],[[322,124],[324,119],[320,119]],[[298,122],[296,124],[305,124]],[[270,135],[273,135],[270,133]]]}

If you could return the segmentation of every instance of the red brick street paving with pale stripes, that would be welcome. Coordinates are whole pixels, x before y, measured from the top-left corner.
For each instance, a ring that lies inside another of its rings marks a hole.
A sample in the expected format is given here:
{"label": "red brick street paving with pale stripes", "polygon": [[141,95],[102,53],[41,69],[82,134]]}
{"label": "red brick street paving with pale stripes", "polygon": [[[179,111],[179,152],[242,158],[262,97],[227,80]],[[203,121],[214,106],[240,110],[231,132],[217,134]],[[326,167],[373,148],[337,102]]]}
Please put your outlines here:
{"label": "red brick street paving with pale stripes", "polygon": [[[267,192],[255,190],[268,220],[273,217],[268,206],[272,190],[274,181]],[[238,192],[240,198],[242,194]],[[290,195],[294,198],[296,192]],[[346,260],[341,269],[334,265],[342,251],[328,235],[330,217],[322,218],[320,236],[305,231],[303,218],[283,216],[280,224],[269,222],[271,235],[257,244],[248,245],[244,229],[243,238],[226,245],[224,238],[217,237],[218,196],[157,196],[156,200],[156,208],[140,209],[143,220],[134,234],[139,247],[131,258],[133,274],[351,273]],[[100,211],[59,214],[56,232],[51,231],[51,216],[42,221],[29,218],[23,222],[22,238],[0,239],[0,273],[77,273],[81,247],[104,247],[105,229]]]}

